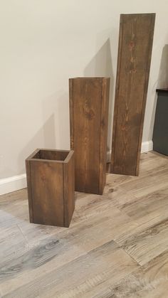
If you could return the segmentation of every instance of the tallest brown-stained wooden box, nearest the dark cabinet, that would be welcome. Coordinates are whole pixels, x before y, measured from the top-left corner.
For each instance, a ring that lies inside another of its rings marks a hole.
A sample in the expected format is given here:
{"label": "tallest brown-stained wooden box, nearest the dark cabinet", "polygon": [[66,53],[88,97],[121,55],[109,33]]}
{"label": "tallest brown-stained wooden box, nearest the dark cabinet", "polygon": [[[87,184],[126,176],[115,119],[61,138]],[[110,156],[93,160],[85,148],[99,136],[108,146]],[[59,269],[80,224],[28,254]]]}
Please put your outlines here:
{"label": "tallest brown-stained wooden box, nearest the dark cabinet", "polygon": [[122,14],[111,172],[139,174],[155,14]]}

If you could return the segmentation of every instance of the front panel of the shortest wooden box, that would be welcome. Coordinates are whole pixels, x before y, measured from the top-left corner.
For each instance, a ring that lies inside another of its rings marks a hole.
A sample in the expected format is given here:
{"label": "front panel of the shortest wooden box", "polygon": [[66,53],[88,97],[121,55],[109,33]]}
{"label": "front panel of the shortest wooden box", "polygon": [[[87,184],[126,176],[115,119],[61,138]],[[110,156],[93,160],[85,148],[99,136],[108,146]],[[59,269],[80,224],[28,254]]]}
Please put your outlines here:
{"label": "front panel of the shortest wooden box", "polygon": [[63,164],[31,160],[33,223],[63,226]]}

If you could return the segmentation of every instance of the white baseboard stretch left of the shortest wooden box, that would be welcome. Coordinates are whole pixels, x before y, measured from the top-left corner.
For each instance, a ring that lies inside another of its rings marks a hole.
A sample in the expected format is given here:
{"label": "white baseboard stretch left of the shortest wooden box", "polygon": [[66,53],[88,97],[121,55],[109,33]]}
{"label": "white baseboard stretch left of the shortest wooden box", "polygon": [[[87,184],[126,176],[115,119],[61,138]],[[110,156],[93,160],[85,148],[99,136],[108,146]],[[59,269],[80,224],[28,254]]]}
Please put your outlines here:
{"label": "white baseboard stretch left of the shortest wooden box", "polygon": [[26,174],[0,179],[0,195],[26,188]]}

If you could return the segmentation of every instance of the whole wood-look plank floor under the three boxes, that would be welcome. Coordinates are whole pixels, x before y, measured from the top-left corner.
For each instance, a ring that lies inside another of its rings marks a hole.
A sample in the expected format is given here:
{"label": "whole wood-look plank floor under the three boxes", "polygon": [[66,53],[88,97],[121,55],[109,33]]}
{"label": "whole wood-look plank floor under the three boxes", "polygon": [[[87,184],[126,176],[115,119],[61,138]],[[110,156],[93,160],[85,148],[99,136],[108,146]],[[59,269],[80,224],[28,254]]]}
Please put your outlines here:
{"label": "whole wood-look plank floor under the three boxes", "polygon": [[168,157],[75,195],[70,228],[29,223],[26,189],[0,197],[0,297],[168,297]]}

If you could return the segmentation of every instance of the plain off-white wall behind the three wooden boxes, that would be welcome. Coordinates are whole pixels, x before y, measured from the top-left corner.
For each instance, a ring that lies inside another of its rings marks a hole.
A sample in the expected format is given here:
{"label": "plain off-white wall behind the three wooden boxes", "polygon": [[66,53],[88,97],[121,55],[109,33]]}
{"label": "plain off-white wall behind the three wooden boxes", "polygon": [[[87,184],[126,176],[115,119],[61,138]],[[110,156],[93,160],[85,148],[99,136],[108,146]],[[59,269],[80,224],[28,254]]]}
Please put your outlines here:
{"label": "plain off-white wall behind the three wooden boxes", "polygon": [[166,0],[0,1],[0,179],[23,174],[38,147],[69,148],[68,78],[110,75],[111,128],[121,13],[157,13],[143,141],[152,139],[155,89],[167,80],[167,6]]}

